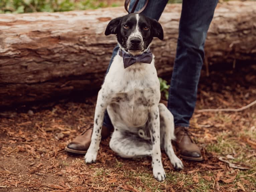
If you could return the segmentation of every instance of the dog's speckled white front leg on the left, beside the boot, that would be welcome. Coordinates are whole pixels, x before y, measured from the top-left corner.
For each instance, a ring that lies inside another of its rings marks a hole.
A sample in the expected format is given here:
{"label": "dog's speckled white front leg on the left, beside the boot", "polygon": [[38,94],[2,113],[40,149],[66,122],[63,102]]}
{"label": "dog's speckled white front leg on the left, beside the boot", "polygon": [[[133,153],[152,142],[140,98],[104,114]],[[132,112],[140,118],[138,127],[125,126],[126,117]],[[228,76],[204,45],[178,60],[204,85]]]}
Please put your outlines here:
{"label": "dog's speckled white front leg on the left, beside the boot", "polygon": [[98,150],[100,148],[101,142],[101,129],[104,119],[104,112],[107,108],[107,99],[104,99],[103,89],[101,89],[98,93],[95,115],[94,115],[94,125],[93,125],[93,134],[91,138],[91,144],[87,153],[85,155],[86,163],[94,163],[96,162]]}

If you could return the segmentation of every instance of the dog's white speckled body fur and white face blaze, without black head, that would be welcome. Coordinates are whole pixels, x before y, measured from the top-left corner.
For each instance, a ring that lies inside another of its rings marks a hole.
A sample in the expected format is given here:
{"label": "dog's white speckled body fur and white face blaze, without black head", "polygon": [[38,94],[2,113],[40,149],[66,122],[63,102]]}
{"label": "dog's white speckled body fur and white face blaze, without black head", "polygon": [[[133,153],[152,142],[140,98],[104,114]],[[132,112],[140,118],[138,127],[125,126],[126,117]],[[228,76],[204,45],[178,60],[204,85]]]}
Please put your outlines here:
{"label": "dog's white speckled body fur and white face blaze, without black head", "polygon": [[[136,15],[137,25],[139,15]],[[139,29],[132,33],[139,36]],[[135,63],[124,69],[123,58],[116,55],[98,93],[91,145],[85,162],[96,161],[101,141],[104,112],[107,109],[114,132],[110,148],[124,158],[152,157],[153,175],[165,179],[161,161],[164,149],[172,165],[182,169],[171,140],[174,136],[173,116],[165,105],[159,104],[160,83],[154,59],[151,64]]]}

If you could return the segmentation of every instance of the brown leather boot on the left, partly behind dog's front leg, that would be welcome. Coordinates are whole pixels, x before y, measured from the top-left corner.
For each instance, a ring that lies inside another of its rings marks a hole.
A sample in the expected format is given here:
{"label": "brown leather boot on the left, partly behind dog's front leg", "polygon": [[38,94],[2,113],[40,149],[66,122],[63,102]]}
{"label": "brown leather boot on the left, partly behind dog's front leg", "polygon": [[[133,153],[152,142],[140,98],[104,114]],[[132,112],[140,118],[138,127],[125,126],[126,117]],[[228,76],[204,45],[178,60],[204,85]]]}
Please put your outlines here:
{"label": "brown leather boot on the left, partly behind dog's front leg", "polygon": [[[105,139],[110,135],[111,129],[102,126],[101,138]],[[66,147],[65,151],[77,154],[86,154],[87,149],[91,143],[91,137],[93,133],[93,128],[85,130],[81,135],[77,136],[72,142],[70,142]]]}

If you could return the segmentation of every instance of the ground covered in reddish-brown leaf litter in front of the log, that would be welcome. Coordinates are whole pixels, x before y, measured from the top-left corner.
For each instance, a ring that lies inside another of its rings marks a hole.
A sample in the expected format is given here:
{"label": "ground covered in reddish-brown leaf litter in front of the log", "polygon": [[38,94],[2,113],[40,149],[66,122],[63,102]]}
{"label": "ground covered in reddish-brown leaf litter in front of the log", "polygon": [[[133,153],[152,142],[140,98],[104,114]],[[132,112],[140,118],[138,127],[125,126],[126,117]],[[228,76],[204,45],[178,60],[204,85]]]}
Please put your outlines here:
{"label": "ground covered in reddish-brown leaf litter in front of the log", "polygon": [[[196,110],[240,108],[253,102],[255,74],[255,65],[210,67],[209,77],[203,70]],[[235,113],[195,112],[190,130],[204,161],[182,160],[184,169],[175,171],[162,153],[167,178],[160,183],[153,178],[150,158],[118,157],[109,148],[109,138],[101,142],[95,164],[86,165],[83,155],[63,150],[93,126],[96,96],[82,101],[0,113],[1,192],[256,191],[256,105]]]}

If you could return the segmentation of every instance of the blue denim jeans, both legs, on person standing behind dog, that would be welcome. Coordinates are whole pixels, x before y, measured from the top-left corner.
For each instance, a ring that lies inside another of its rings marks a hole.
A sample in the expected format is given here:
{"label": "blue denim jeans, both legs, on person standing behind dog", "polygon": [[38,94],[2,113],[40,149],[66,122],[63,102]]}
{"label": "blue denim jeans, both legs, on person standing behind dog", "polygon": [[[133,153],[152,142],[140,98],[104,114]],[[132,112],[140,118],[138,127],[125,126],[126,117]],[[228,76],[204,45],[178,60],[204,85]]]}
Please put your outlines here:
{"label": "blue denim jeans, both legs, on person standing behind dog", "polygon": [[[143,7],[145,0],[140,0],[136,10]],[[158,20],[168,0],[150,0],[144,15]],[[131,6],[134,0],[131,0]],[[197,87],[204,58],[204,44],[208,28],[213,18],[218,0],[183,0],[179,21],[179,36],[176,57],[169,89],[168,109],[174,117],[175,126],[189,126],[197,101]],[[113,50],[109,67],[119,47]],[[108,67],[108,70],[109,70]],[[107,72],[108,72],[107,70]],[[104,123],[112,127],[105,112]]]}

